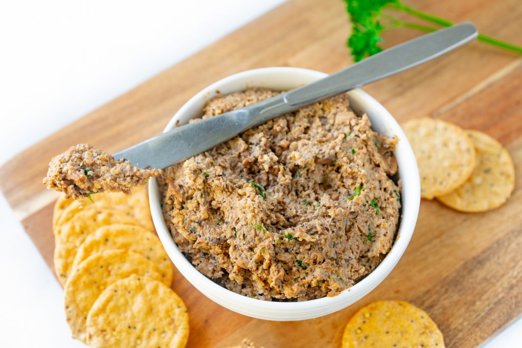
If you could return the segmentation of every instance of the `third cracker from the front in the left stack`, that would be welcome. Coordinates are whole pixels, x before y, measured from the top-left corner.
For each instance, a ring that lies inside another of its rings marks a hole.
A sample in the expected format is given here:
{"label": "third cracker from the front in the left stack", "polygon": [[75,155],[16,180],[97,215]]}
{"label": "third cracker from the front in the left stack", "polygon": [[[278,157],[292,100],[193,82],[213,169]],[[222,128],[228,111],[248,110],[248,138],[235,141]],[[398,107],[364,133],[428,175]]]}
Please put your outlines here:
{"label": "third cracker from the front in the left stack", "polygon": [[74,258],[73,269],[90,255],[110,249],[123,249],[145,256],[156,264],[163,282],[170,286],[172,263],[169,256],[156,234],[139,226],[115,224],[100,227],[80,245]]}

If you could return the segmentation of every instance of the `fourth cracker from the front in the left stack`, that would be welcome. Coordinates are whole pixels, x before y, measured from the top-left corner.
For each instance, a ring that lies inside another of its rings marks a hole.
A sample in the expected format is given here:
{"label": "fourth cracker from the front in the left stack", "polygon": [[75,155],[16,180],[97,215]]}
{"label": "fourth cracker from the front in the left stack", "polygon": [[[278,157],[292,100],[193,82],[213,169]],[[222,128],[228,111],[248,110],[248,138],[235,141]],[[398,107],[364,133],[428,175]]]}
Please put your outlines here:
{"label": "fourth cracker from the front in the left stack", "polygon": [[138,221],[117,210],[86,210],[78,212],[64,225],[57,226],[54,236],[54,270],[62,285],[73,267],[76,251],[85,238],[102,226],[116,223],[137,225]]}

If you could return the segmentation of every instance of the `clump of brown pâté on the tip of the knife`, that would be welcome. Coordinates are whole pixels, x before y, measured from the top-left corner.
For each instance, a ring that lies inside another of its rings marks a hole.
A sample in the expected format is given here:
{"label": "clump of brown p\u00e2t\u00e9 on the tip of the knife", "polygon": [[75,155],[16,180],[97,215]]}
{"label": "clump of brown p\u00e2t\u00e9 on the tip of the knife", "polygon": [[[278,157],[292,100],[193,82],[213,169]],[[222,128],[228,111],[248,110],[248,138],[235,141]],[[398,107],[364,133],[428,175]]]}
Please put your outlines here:
{"label": "clump of brown p\u00e2t\u00e9 on the tip of the knife", "polygon": [[109,153],[89,144],[78,144],[54,157],[43,183],[68,197],[83,199],[103,191],[126,194],[161,170],[138,169],[127,160],[116,161]]}

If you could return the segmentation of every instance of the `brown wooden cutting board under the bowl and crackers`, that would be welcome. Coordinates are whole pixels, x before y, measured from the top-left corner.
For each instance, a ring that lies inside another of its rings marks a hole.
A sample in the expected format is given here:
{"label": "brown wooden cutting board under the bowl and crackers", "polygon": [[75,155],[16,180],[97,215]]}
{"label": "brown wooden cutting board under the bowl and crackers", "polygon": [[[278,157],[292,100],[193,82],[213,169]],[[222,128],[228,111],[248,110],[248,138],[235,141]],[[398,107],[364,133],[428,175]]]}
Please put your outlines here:
{"label": "brown wooden cutting board under the bowl and crackers", "polygon": [[[520,0],[419,0],[421,10],[522,45]],[[0,187],[52,268],[55,194],[41,183],[51,157],[78,142],[111,152],[160,133],[179,107],[210,83],[238,71],[296,66],[332,73],[351,64],[350,27],[340,0],[290,0],[228,37],[17,155],[0,169]],[[395,29],[386,46],[418,32]],[[336,347],[348,318],[378,299],[424,308],[448,347],[473,347],[522,314],[522,58],[472,43],[433,62],[364,88],[399,122],[431,116],[499,139],[516,166],[503,207],[464,214],[421,203],[417,229],[395,270],[371,294],[335,314],[270,322],[211,302],[176,271],[173,288],[191,316],[189,347],[226,347],[248,337],[269,347]]]}

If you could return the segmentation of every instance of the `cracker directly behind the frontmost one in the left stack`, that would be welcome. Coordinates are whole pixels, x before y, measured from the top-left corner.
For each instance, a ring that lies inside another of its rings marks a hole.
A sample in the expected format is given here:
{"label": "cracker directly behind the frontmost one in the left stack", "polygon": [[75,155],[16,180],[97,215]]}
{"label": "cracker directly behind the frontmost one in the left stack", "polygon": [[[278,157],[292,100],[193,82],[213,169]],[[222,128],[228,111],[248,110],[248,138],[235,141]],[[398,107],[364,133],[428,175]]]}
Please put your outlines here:
{"label": "cracker directly behind the frontmost one in the left stack", "polygon": [[126,250],[101,251],[74,268],[64,287],[65,316],[73,338],[86,342],[89,309],[107,286],[132,274],[163,279],[154,262]]}

